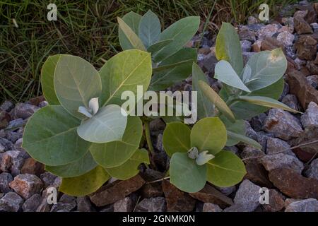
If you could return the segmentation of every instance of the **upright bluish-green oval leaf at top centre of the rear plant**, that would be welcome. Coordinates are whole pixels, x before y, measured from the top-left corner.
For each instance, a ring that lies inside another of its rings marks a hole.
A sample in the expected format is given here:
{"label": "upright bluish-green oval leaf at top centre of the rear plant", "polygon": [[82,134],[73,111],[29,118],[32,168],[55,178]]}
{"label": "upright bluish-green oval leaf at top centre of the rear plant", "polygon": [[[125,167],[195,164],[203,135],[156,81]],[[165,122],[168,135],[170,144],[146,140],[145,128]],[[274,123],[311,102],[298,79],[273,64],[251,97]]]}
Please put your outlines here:
{"label": "upright bluish-green oval leaf at top centre of the rear plant", "polygon": [[139,23],[139,37],[146,48],[159,40],[161,33],[160,20],[155,13],[148,10]]}

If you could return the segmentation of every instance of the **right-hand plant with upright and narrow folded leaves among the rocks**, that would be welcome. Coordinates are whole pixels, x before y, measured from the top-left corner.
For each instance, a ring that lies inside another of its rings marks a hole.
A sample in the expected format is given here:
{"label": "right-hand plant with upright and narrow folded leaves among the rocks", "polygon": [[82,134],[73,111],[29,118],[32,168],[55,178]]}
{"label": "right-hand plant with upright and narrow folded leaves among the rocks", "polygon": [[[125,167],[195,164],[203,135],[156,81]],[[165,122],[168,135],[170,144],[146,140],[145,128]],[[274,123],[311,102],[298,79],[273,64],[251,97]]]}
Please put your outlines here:
{"label": "right-hand plant with upright and narrow folded leaves among the rocks", "polygon": [[245,136],[245,123],[270,107],[296,112],[278,101],[283,92],[283,74],[287,60],[281,49],[254,54],[244,66],[240,39],[230,23],[223,23],[216,38],[214,78],[223,84],[216,93],[207,84],[204,73],[192,67],[193,90],[198,91],[198,117],[220,116],[228,131],[227,145],[242,141],[261,148]]}

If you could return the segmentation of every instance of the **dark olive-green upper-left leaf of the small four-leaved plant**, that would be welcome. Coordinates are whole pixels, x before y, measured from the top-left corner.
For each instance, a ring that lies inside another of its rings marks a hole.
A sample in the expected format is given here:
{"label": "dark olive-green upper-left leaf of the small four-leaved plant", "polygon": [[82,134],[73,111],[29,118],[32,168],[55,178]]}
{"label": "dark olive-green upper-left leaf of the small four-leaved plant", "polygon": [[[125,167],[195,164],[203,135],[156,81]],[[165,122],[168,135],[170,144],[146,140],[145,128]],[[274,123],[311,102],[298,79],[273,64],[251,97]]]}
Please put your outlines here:
{"label": "dark olive-green upper-left leaf of the small four-leaved plant", "polygon": [[191,130],[182,122],[168,123],[163,131],[163,148],[170,157],[174,153],[187,153],[191,148]]}

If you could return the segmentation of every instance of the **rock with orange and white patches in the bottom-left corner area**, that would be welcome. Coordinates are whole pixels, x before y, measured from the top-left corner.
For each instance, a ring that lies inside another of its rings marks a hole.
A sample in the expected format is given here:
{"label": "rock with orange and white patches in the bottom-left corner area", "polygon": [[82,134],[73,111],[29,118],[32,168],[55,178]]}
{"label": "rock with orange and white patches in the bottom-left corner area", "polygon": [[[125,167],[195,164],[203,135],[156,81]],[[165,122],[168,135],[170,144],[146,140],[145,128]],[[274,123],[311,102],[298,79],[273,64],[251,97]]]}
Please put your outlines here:
{"label": "rock with orange and white patches in the bottom-left corner area", "polygon": [[10,182],[9,186],[17,194],[27,199],[34,194],[40,193],[43,183],[40,178],[33,174],[20,174],[14,177],[13,182]]}

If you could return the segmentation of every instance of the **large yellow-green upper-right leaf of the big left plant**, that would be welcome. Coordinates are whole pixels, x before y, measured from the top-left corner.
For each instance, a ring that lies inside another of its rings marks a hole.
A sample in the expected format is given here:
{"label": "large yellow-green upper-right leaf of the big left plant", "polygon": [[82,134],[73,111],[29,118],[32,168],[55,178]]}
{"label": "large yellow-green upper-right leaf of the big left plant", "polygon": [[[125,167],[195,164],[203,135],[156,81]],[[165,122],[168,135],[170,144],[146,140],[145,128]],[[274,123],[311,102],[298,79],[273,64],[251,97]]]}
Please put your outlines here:
{"label": "large yellow-green upper-right leaf of the big left plant", "polygon": [[151,54],[137,49],[116,54],[100,69],[100,106],[122,105],[126,101],[121,100],[122,93],[130,90],[136,95],[137,85],[142,85],[143,92],[146,92],[151,81],[151,73]]}

